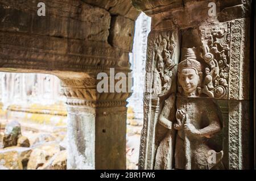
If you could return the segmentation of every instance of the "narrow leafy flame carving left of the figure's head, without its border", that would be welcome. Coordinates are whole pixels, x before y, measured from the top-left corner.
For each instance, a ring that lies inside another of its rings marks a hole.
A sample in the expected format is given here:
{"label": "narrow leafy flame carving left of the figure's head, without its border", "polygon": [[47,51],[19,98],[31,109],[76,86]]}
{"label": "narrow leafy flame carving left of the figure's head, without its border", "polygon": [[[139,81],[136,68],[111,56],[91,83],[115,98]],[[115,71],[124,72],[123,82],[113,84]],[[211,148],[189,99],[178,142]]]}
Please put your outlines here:
{"label": "narrow leafy flame carving left of the figure's head, without its border", "polygon": [[155,96],[163,96],[171,89],[172,69],[176,65],[174,62],[175,44],[171,41],[170,33],[159,34],[154,42],[154,83],[152,93]]}

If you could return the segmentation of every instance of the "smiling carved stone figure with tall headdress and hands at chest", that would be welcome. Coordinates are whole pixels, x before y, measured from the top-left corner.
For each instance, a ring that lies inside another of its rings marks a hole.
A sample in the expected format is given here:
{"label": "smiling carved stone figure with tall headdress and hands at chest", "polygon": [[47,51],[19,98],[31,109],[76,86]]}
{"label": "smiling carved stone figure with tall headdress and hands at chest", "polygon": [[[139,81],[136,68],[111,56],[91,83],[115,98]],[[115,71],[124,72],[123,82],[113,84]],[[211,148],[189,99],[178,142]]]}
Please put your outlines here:
{"label": "smiling carved stone figure with tall headdress and hands at chest", "polygon": [[203,78],[201,69],[193,49],[188,48],[178,65],[176,106],[175,96],[171,95],[159,116],[158,123],[170,131],[158,147],[155,169],[212,169],[222,159],[223,151],[217,152],[214,144],[208,143],[221,130],[221,125],[212,100],[198,98]]}

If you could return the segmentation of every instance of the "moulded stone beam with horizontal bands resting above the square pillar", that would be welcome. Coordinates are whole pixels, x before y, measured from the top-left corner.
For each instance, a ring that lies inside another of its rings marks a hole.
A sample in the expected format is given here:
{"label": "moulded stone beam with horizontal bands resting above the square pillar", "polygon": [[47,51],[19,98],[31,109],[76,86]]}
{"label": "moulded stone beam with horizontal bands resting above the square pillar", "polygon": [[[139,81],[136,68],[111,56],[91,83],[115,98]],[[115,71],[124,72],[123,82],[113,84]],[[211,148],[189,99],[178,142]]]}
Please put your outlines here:
{"label": "moulded stone beam with horizontal bands resting above the square pillar", "polygon": [[[109,44],[95,41],[23,35],[13,32],[1,32],[0,37],[1,68],[11,68],[11,71],[27,72],[32,69],[52,74],[58,71],[108,70],[106,65],[127,69],[121,65],[127,65],[129,60],[128,53],[112,48]],[[24,57],[20,58],[20,54]],[[94,57],[93,54],[97,56]],[[122,60],[119,61],[121,57]]]}

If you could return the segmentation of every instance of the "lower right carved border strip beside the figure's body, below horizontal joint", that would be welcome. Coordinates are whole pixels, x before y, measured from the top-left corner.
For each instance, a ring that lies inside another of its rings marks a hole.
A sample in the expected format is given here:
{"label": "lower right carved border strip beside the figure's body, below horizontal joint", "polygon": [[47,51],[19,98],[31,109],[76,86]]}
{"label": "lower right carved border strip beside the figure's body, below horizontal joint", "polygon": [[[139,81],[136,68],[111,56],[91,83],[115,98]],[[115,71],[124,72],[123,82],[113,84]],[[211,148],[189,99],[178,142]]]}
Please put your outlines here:
{"label": "lower right carved border strip beside the figure's body, below horizontal joint", "polygon": [[217,100],[223,120],[223,148],[225,169],[240,170],[250,167],[251,140],[249,101]]}

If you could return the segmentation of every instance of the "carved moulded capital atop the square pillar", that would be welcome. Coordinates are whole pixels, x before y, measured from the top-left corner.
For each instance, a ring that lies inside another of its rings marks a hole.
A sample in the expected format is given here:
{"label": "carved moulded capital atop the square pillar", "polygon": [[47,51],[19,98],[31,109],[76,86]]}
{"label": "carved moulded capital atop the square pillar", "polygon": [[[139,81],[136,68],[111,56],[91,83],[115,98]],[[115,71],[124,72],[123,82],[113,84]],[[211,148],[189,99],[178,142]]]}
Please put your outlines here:
{"label": "carved moulded capital atop the square pillar", "polygon": [[[68,106],[84,106],[91,108],[123,107],[131,92],[102,92],[97,91],[95,78],[61,79],[63,95],[67,97]],[[113,110],[117,111],[117,110]]]}

